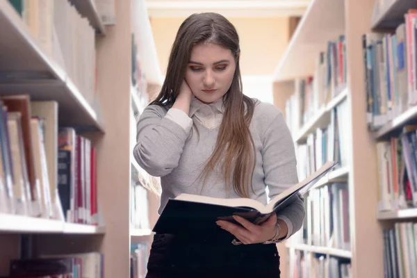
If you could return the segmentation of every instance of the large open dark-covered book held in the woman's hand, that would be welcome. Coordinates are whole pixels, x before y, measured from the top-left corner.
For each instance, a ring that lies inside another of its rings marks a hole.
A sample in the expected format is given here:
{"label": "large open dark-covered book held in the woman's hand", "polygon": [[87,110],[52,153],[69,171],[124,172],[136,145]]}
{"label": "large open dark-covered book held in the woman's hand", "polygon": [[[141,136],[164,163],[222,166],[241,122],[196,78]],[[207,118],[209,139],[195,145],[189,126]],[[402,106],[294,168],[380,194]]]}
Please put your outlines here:
{"label": "large open dark-covered book held in the woman's hand", "polygon": [[325,163],[303,181],[275,196],[266,206],[249,198],[222,199],[181,194],[168,200],[152,231],[166,234],[219,233],[221,229],[215,222],[227,220],[237,223],[233,215],[239,215],[254,224],[262,224],[273,212],[279,214],[295,198],[304,195],[334,166],[334,161]]}

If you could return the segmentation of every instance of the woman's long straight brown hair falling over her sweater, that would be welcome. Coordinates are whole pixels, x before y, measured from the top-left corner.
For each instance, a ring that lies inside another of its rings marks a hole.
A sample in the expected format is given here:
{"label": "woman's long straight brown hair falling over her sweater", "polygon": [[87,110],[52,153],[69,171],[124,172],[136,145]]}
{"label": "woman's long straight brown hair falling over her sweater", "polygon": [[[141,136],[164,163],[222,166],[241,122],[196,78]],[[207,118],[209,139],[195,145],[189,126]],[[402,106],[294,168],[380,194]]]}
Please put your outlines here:
{"label": "woman's long straight brown hair falling over her sweater", "polygon": [[243,95],[242,92],[239,37],[233,24],[217,13],[190,15],[179,27],[167,65],[167,76],[161,92],[151,104],[161,106],[174,104],[190,60],[191,50],[196,44],[204,42],[230,49],[236,60],[236,71],[231,86],[223,97],[225,110],[222,123],[215,149],[208,158],[202,176],[206,181],[208,174],[216,167],[220,167],[223,170],[226,187],[231,188],[231,180],[236,194],[250,197],[250,188],[253,192],[255,147],[249,126],[254,114],[254,100]]}

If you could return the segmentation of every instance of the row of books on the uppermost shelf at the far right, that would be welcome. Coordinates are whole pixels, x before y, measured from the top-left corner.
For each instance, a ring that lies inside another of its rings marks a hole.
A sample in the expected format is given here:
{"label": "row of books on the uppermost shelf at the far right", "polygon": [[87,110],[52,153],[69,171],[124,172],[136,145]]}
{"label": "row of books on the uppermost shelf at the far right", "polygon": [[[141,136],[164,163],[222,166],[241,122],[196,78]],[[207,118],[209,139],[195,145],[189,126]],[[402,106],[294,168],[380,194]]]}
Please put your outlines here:
{"label": "row of books on the uppermost shelf at the far right", "polygon": [[371,131],[417,104],[416,20],[417,10],[408,10],[395,32],[362,36]]}

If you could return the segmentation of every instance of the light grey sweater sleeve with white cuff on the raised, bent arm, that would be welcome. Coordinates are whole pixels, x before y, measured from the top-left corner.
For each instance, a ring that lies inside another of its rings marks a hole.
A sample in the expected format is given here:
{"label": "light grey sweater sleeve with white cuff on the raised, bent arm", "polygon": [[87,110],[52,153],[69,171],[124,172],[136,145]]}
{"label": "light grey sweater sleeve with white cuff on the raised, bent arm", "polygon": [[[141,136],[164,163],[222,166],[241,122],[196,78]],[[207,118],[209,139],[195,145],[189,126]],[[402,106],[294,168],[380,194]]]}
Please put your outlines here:
{"label": "light grey sweater sleeve with white cuff on the raised, bent arm", "polygon": [[[163,177],[178,166],[193,120],[186,113],[163,115],[161,106],[147,106],[140,115],[133,156],[145,171]],[[188,128],[189,126],[189,128]]]}

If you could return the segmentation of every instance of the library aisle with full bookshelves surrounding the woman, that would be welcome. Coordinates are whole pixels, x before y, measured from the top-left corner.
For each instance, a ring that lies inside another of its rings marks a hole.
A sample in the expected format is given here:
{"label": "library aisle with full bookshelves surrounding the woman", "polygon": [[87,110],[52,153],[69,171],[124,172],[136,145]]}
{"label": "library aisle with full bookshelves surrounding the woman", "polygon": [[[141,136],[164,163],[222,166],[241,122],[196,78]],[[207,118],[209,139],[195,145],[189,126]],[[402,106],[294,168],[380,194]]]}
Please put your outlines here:
{"label": "library aisle with full bookshelves surrounding the woman", "polygon": [[220,2],[0,0],[0,277],[145,277],[159,180],[136,122],[208,10],[238,28],[244,93],[284,114],[299,179],[338,161],[277,244],[281,277],[417,277],[417,2]]}

